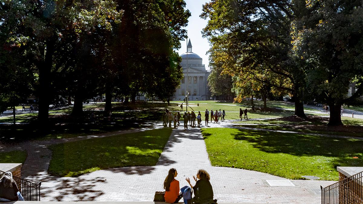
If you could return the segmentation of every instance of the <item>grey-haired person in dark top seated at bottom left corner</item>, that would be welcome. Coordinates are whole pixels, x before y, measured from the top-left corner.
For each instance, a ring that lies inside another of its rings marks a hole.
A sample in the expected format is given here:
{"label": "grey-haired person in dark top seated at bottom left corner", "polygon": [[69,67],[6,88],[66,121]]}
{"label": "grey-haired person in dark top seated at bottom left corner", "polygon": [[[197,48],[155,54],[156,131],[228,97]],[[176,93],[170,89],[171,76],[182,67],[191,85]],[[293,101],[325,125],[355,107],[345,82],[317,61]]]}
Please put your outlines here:
{"label": "grey-haired person in dark top seated at bottom left corner", "polygon": [[4,176],[0,179],[0,202],[9,201],[23,201],[24,198],[21,196],[18,186],[13,179],[11,172],[5,172]]}

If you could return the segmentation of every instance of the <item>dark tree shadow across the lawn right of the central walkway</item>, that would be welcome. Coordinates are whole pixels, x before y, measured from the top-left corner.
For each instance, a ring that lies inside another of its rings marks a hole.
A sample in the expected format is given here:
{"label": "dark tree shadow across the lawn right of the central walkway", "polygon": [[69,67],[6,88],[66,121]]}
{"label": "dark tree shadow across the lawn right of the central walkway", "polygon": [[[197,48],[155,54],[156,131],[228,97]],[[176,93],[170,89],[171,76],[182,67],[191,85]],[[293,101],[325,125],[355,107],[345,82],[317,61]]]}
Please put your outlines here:
{"label": "dark tree shadow across the lawn right of the central walkway", "polygon": [[233,136],[264,152],[331,157],[334,168],[363,165],[363,140],[253,130],[238,130]]}

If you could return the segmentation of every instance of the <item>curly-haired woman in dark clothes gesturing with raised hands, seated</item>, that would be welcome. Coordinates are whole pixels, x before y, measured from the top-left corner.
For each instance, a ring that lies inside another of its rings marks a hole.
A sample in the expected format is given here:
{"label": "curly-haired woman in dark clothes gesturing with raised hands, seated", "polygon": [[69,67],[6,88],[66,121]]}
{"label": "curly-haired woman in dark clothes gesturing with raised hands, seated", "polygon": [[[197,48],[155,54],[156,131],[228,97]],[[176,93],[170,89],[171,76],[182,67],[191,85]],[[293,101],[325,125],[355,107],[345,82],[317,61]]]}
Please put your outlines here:
{"label": "curly-haired woman in dark clothes gesturing with raised hands, seated", "polygon": [[216,200],[213,200],[213,188],[209,182],[211,177],[209,176],[208,172],[200,169],[197,172],[197,178],[193,176],[193,179],[196,181],[194,186],[190,183],[189,178],[185,179],[189,183],[190,187],[193,188],[193,202],[195,204],[216,203]]}

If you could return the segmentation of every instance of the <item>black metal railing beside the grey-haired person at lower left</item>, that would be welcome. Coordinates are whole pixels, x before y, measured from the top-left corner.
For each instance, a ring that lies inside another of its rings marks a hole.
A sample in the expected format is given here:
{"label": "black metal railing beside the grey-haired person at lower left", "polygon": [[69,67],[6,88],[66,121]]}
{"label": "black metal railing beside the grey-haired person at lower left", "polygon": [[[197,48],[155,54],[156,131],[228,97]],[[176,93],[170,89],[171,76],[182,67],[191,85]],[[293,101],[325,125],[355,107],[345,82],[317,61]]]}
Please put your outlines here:
{"label": "black metal railing beside the grey-haired person at lower left", "polygon": [[[3,177],[4,171],[0,171],[0,178]],[[40,185],[39,183],[32,183],[30,181],[13,176],[16,184],[18,185],[21,195],[26,201],[40,201]]]}

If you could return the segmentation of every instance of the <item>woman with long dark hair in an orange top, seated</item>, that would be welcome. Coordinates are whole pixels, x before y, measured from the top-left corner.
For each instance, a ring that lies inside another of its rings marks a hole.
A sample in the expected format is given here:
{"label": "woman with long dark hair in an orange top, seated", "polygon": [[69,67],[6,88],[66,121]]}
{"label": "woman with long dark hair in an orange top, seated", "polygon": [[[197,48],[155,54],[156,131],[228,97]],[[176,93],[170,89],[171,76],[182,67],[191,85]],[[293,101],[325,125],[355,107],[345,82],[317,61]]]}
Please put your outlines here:
{"label": "woman with long dark hair in an orange top, seated", "polygon": [[164,180],[164,189],[165,189],[165,202],[167,203],[178,203],[181,197],[183,197],[182,193],[179,193],[179,181],[174,179],[178,175],[178,172],[175,168],[171,168],[169,170],[168,176]]}

